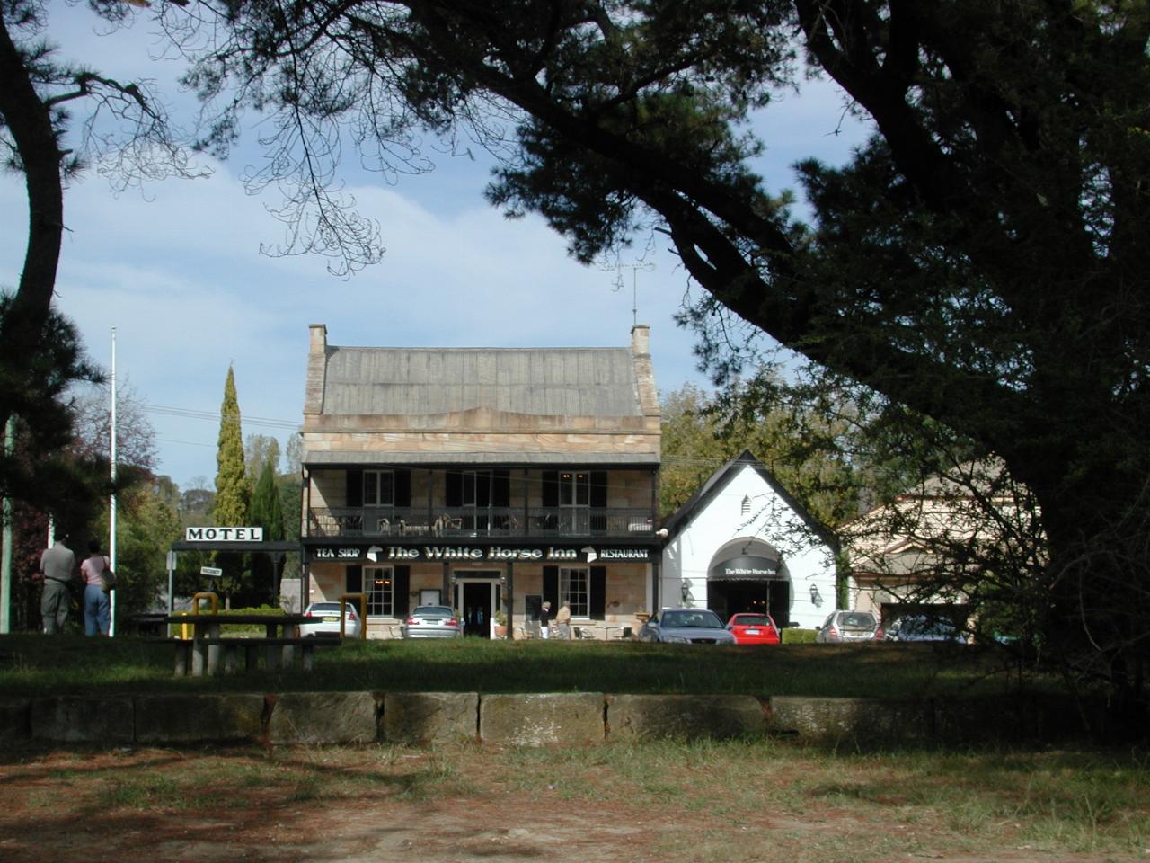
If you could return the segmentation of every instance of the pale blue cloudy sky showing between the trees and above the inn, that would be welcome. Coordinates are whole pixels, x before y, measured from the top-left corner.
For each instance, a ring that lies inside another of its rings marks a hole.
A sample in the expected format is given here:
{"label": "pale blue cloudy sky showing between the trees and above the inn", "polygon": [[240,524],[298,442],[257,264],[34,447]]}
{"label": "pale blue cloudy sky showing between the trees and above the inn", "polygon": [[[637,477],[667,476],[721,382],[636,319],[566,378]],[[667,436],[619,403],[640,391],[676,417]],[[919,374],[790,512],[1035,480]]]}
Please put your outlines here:
{"label": "pale blue cloudy sky showing between the trees and above the inn", "polygon": [[[154,60],[160,43],[146,18],[107,33],[84,6],[55,3],[47,37],[61,56],[120,79],[154,78],[177,116],[194,105],[174,83],[178,66]],[[864,131],[843,120],[841,96],[812,82],[758,121],[768,145],[759,169],[777,191],[793,185],[790,165],[806,155],[841,162]],[[836,133],[837,132],[837,133]],[[255,137],[245,130],[245,140]],[[246,158],[245,158],[246,156]],[[78,326],[90,354],[148,407],[159,472],[182,487],[215,476],[217,412],[229,365],[244,433],[284,444],[301,422],[308,324],[325,323],[338,345],[623,346],[632,322],[630,272],[616,290],[613,269],[572,260],[542,220],[508,221],[482,198],[486,166],[443,156],[428,175],[388,185],[348,166],[360,209],[379,222],[386,253],[348,281],[320,258],[271,258],[282,227],[238,180],[254,161],[240,148],[228,162],[205,159],[207,180],[171,180],[113,194],[86,175],[66,193],[67,231],[56,306]],[[26,240],[22,178],[0,178],[0,283],[15,285]],[[673,316],[695,296],[660,244],[654,268],[636,275],[638,321],[651,324],[661,390],[705,383],[693,337]]]}

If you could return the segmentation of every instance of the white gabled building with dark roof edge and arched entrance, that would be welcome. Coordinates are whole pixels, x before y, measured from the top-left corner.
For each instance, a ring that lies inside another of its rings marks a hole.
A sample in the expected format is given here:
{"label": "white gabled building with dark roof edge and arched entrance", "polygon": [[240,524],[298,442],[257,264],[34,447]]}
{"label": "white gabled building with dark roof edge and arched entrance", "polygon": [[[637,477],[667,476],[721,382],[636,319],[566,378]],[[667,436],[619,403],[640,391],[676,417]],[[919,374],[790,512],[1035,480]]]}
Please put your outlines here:
{"label": "white gabled building with dark roof edge and arched entrance", "polygon": [[659,605],[708,608],[726,621],[766,611],[813,628],[835,609],[834,534],[744,451],[664,524]]}

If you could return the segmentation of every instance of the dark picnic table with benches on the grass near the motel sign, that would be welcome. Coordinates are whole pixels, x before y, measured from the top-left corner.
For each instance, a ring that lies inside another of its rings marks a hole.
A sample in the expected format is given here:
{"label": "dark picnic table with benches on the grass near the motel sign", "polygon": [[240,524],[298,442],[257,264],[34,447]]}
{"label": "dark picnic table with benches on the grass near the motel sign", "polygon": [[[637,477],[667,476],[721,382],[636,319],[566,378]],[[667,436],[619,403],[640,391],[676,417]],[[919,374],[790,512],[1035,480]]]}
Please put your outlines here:
{"label": "dark picnic table with benches on the grass near the motel sign", "polygon": [[[308,618],[304,614],[169,614],[166,624],[177,624],[192,628],[190,639],[168,639],[176,646],[177,677],[215,674],[223,659],[225,673],[239,671],[238,655],[244,650],[244,670],[254,671],[259,657],[268,671],[290,667],[299,649],[305,671],[310,671],[315,662],[315,648],[338,644],[339,637],[301,639],[298,627]],[[263,637],[222,636],[220,627],[225,624],[262,625]]]}

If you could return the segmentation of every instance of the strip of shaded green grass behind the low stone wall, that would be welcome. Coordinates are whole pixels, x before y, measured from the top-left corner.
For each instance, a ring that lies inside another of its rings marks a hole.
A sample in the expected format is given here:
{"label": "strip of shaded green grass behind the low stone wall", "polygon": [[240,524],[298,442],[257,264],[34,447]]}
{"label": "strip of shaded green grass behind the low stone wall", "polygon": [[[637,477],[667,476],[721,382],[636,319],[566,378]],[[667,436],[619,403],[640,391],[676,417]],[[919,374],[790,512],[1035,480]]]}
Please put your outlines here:
{"label": "strip of shaded green grass behind the low stone wall", "polygon": [[[0,692],[606,692],[923,697],[987,695],[1018,681],[960,646],[691,647],[635,642],[348,641],[316,670],[176,678],[169,644],[145,639],[0,636]],[[1030,686],[1055,686],[1032,679]]]}

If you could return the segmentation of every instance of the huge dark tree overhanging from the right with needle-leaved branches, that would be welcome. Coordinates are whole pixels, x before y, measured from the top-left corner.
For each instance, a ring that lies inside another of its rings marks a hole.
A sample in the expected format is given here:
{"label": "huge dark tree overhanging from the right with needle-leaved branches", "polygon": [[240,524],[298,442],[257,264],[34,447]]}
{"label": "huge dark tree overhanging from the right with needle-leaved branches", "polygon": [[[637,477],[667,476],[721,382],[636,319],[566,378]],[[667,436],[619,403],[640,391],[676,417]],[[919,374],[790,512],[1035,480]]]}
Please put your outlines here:
{"label": "huge dark tree overhanging from the right with needle-leaved branches", "polygon": [[[206,6],[227,37],[191,81],[209,98],[235,85],[209,142],[227,145],[245,106],[273,113],[276,158],[260,176],[307,165],[293,174],[296,214],[327,200],[332,175],[314,160],[337,158],[340,123],[386,154],[414,123],[470,122],[497,145],[508,136],[492,124],[511,120],[515,148],[490,199],[542,213],[585,261],[638,229],[665,232],[707,292],[687,320],[716,380],[746,360],[722,337],[735,315],[812,371],[1000,457],[1034,495],[1049,544],[1037,574],[1049,649],[1067,669],[1102,657],[1116,703],[1141,697],[1143,3]],[[799,60],[875,130],[842,169],[803,163],[810,223],[756,174],[761,145],[745,130]],[[344,226],[312,224],[293,235],[300,245],[338,244]],[[370,232],[353,228],[340,242],[362,261]]]}

